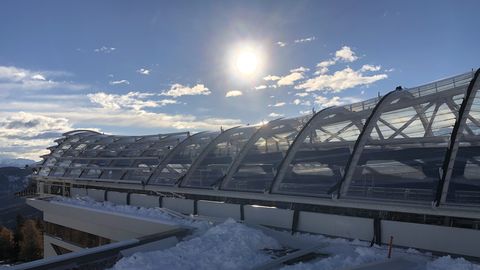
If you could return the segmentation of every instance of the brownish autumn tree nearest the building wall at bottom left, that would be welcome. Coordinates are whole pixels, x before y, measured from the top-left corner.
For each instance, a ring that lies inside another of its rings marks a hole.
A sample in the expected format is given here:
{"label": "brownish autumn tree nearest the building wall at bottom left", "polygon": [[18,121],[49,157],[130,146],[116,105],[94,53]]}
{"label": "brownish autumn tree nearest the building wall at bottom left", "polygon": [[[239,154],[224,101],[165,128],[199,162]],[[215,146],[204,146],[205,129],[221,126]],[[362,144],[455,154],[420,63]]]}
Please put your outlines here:
{"label": "brownish autumn tree nearest the building wall at bottom left", "polygon": [[35,221],[31,219],[26,220],[20,229],[20,233],[22,239],[19,243],[20,253],[18,254],[18,259],[21,261],[41,259],[43,256],[42,234],[37,228]]}

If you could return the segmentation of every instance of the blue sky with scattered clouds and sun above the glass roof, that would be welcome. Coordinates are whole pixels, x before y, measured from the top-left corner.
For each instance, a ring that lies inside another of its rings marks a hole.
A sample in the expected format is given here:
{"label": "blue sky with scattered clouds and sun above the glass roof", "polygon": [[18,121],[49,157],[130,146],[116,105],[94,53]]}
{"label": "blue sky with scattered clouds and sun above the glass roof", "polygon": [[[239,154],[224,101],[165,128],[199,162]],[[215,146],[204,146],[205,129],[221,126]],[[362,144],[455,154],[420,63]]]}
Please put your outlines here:
{"label": "blue sky with scattered clouds and sun above the glass roof", "polygon": [[0,159],[296,117],[480,66],[479,1],[2,1]]}

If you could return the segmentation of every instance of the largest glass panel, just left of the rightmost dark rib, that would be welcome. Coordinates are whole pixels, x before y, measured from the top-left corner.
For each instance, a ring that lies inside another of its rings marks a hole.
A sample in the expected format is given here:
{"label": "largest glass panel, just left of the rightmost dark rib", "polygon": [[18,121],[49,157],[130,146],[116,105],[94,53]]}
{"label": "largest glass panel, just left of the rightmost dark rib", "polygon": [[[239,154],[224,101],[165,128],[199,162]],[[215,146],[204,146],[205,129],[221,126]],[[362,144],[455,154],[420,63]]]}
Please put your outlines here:
{"label": "largest glass panel, just left of the rightmost dark rib", "polygon": [[398,102],[382,105],[380,118],[374,123],[377,136],[367,141],[347,196],[434,200],[458,114],[456,103],[466,90],[466,86],[453,91],[453,84],[449,87],[449,92],[445,87],[440,91],[435,84],[400,90],[403,93]]}

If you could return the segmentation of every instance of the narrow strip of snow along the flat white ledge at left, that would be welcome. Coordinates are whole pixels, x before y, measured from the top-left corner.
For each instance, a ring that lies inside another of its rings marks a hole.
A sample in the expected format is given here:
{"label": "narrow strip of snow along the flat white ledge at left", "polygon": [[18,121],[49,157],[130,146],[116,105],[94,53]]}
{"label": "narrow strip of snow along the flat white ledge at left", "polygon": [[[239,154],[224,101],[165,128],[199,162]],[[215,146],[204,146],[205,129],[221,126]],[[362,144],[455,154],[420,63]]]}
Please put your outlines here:
{"label": "narrow strip of snow along the flat white ledge at left", "polygon": [[161,220],[164,223],[172,225],[184,225],[194,227],[199,231],[206,231],[212,226],[207,221],[197,221],[190,218],[180,218],[170,213],[163,211],[161,208],[145,208],[133,205],[117,205],[108,201],[98,202],[90,197],[61,197],[57,196],[50,200],[51,202],[58,202],[64,204],[70,204],[75,206],[81,206],[85,208],[103,210],[107,212],[127,214],[136,217],[150,218],[155,220]]}

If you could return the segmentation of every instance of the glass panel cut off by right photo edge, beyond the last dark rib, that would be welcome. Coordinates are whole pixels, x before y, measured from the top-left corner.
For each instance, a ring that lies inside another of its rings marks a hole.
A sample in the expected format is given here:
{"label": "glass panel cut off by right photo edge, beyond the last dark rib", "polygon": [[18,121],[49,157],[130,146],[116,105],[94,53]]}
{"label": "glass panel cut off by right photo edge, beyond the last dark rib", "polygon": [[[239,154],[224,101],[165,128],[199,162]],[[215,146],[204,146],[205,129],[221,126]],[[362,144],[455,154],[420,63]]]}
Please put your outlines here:
{"label": "glass panel cut off by right photo edge, beyond the last dark rib", "polygon": [[475,83],[475,98],[468,112],[465,129],[459,138],[447,202],[480,204],[480,82]]}

